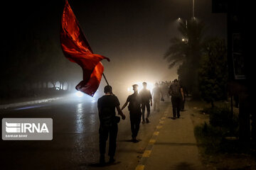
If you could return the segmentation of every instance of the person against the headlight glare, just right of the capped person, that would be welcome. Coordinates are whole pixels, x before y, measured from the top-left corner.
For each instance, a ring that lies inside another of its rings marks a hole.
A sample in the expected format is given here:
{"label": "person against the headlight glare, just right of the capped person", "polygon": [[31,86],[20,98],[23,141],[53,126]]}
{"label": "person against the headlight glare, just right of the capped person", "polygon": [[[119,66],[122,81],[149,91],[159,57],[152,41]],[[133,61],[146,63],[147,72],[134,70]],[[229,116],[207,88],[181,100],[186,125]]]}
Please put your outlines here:
{"label": "person against the headlight glare, just right of the capped person", "polygon": [[146,123],[149,123],[150,106],[152,106],[152,96],[146,89],[146,82],[143,82],[143,89],[139,92],[142,97],[142,123],[145,123],[145,108],[146,108]]}

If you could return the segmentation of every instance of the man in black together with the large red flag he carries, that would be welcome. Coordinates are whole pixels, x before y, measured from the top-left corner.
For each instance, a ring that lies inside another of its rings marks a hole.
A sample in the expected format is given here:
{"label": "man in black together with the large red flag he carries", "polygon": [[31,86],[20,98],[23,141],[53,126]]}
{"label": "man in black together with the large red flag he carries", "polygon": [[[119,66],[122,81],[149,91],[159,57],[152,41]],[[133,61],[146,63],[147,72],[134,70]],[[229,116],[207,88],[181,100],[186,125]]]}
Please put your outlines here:
{"label": "man in black together with the large red flag he carries", "polygon": [[[93,54],[92,49],[87,42],[82,29],[79,26],[78,20],[75,18],[68,1],[65,1],[63,16],[61,19],[60,44],[65,57],[71,62],[75,62],[82,67],[83,79],[75,87],[78,91],[93,96],[100,85],[100,80],[104,71],[104,67],[100,62],[103,59],[108,59],[102,55]],[[104,74],[103,74],[104,76]],[[107,79],[105,79],[107,81]],[[98,111],[100,117],[100,163],[105,163],[105,147],[107,137],[110,134],[110,162],[114,162],[114,152],[116,149],[117,139],[117,120],[115,116],[115,108],[122,119],[125,115],[119,108],[119,101],[112,94],[112,87],[105,86],[105,96],[98,101]]]}

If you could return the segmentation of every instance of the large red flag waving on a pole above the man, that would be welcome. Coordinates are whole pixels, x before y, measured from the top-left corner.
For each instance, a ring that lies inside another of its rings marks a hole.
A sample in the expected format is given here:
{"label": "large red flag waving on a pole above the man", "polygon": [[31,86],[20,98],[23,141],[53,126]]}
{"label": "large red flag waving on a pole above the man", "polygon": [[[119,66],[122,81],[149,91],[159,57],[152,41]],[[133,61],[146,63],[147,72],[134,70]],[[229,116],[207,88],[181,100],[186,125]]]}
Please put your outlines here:
{"label": "large red flag waving on a pole above the man", "polygon": [[65,57],[82,67],[82,81],[75,86],[75,89],[93,96],[100,85],[104,71],[100,61],[103,59],[110,61],[110,59],[102,55],[93,54],[77,18],[68,4],[68,0],[65,1],[61,19],[60,44]]}

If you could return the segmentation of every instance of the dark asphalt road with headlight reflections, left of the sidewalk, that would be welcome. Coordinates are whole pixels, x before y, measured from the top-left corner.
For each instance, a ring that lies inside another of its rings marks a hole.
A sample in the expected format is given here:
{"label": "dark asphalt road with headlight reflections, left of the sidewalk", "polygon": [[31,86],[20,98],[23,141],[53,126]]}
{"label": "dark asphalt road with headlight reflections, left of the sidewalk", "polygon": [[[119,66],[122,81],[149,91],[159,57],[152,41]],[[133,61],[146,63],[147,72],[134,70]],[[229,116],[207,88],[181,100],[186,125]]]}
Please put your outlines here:
{"label": "dark asphalt road with headlight reflections, left of the sidewalk", "polygon": [[[124,98],[120,100],[121,106]],[[162,103],[165,107],[169,103]],[[0,169],[135,169],[162,112],[151,113],[151,123],[141,124],[139,142],[131,142],[129,113],[119,123],[116,162],[105,167],[99,161],[97,98],[63,98],[32,106],[0,110],[1,118],[53,118],[51,141],[0,142]],[[106,154],[107,159],[107,154]]]}

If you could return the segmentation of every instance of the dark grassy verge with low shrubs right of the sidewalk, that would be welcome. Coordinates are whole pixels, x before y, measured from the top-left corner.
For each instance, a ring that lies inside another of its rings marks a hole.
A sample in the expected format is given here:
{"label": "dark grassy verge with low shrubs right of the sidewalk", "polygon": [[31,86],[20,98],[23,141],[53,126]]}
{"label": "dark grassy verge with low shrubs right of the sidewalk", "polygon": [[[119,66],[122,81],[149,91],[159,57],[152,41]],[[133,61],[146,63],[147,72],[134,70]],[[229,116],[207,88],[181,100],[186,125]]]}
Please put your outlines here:
{"label": "dark grassy verge with low shrubs right of the sidewalk", "polygon": [[[227,105],[227,103],[220,103],[218,107],[225,108]],[[228,114],[228,110],[223,109],[224,111],[220,111],[221,109],[217,109],[218,114],[215,118],[215,123],[213,123],[216,126],[213,126],[210,125],[210,112],[212,109],[208,106],[208,103],[188,101],[188,106],[192,111],[191,120],[194,125],[194,134],[198,142],[201,161],[206,170],[256,169],[256,145],[253,143],[242,145],[237,138],[226,138],[238,137],[238,128],[236,128],[238,115],[236,113],[234,113],[233,125],[230,128],[230,123],[223,126],[223,123],[227,123],[227,121],[221,120],[219,116],[223,113]],[[216,111],[216,108],[214,110]]]}

